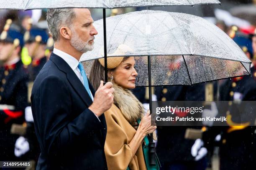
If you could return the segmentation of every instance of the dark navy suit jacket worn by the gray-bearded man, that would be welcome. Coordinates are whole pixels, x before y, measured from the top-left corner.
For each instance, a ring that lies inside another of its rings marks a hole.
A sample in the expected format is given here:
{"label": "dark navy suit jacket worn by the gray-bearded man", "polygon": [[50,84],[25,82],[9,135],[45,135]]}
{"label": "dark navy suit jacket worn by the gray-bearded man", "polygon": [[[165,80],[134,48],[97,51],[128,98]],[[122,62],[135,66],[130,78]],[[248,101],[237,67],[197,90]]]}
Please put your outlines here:
{"label": "dark navy suit jacket worn by the gray-bearded man", "polygon": [[52,54],[39,72],[31,103],[41,148],[37,169],[107,169],[105,116],[99,121],[88,109],[90,96],[61,57]]}

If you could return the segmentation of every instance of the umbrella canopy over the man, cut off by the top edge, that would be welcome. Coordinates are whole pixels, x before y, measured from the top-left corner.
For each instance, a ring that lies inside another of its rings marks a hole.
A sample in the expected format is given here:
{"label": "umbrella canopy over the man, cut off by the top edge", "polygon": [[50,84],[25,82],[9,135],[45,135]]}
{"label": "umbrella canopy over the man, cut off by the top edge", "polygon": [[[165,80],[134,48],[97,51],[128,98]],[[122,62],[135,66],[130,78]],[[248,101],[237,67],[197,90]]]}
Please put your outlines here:
{"label": "umbrella canopy over the man, cut off by the top edge", "polygon": [[42,9],[63,7],[118,8],[169,5],[220,4],[218,0],[1,0],[0,9]]}

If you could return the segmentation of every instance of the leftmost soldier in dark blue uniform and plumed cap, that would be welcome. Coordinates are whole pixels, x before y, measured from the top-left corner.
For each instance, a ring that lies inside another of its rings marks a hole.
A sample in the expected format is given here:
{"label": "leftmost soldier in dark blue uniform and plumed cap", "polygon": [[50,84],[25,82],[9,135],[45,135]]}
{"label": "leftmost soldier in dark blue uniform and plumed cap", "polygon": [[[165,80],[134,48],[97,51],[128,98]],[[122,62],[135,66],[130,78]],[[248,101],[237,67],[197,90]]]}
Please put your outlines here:
{"label": "leftmost soldier in dark blue uniform and plumed cap", "polygon": [[[27,104],[28,74],[20,60],[23,35],[20,28],[6,21],[0,35],[0,160],[18,160],[14,154],[18,135],[12,134],[11,126],[24,123]],[[24,124],[25,126],[26,124]],[[20,159],[19,159],[20,160]]]}

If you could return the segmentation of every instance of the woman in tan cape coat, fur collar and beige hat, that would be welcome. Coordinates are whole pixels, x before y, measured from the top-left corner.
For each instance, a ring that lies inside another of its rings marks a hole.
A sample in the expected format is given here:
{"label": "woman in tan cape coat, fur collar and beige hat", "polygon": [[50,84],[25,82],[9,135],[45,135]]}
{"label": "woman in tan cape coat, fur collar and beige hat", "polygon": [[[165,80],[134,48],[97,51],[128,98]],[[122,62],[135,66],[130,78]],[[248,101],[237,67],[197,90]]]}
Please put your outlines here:
{"label": "woman in tan cape coat, fur collar and beige hat", "polygon": [[[105,112],[105,156],[109,170],[146,170],[141,143],[156,130],[156,126],[151,126],[149,111],[144,116],[143,105],[129,91],[135,88],[138,75],[134,65],[134,57],[108,58],[108,76],[115,89],[114,104]],[[100,80],[104,80],[104,59],[95,60],[92,68],[90,82],[97,89]]]}

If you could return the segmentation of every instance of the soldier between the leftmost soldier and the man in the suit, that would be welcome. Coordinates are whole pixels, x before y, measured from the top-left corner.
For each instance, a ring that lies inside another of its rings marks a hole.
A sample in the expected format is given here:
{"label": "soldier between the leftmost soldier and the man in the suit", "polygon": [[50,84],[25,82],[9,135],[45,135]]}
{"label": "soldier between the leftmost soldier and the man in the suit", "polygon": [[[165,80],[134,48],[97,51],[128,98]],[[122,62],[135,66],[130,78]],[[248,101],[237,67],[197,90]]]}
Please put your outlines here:
{"label": "soldier between the leftmost soldier and the man in the suit", "polygon": [[16,148],[18,148],[18,150],[23,150],[23,152],[20,152],[20,156],[26,155],[26,157],[28,157],[31,161],[31,165],[33,167],[36,167],[36,161],[38,160],[38,156],[40,154],[40,148],[34,130],[33,115],[30,106],[30,96],[31,89],[33,87],[33,81],[36,79],[36,76],[47,61],[45,53],[48,35],[43,29],[31,28],[30,30],[27,30],[27,32],[25,32],[23,39],[25,42],[25,47],[28,50],[28,55],[32,58],[32,62],[30,65],[27,66],[29,82],[27,94],[28,107],[26,107],[25,109],[26,133],[23,134],[23,136],[21,136],[20,138],[25,138],[26,142],[28,142],[29,144],[29,150],[18,144],[18,140],[20,140],[20,138],[17,140],[17,145],[15,146]]}

